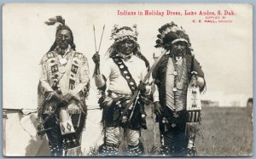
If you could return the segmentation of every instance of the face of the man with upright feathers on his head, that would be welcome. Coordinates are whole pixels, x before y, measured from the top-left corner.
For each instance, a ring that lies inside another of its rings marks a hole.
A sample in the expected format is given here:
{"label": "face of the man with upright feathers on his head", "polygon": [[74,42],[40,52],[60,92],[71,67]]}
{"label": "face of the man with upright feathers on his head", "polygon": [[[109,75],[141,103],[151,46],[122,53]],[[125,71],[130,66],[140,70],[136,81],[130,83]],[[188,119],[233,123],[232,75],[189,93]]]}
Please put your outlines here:
{"label": "face of the man with upright feathers on his head", "polygon": [[61,49],[66,49],[71,43],[71,33],[67,30],[58,31],[56,34],[56,43]]}

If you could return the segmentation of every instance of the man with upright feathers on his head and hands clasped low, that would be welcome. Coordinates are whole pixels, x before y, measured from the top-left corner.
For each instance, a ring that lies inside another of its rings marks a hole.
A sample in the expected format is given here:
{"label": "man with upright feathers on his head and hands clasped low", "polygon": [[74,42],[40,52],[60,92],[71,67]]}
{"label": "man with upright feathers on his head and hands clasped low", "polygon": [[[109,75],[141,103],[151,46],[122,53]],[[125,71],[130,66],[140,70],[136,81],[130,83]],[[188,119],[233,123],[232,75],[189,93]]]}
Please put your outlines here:
{"label": "man with upright feathers on his head and hands clasped low", "polygon": [[38,134],[47,134],[51,156],[80,156],[81,133],[90,88],[88,61],[76,51],[73,31],[61,16],[47,25],[59,23],[55,43],[41,60],[38,85]]}

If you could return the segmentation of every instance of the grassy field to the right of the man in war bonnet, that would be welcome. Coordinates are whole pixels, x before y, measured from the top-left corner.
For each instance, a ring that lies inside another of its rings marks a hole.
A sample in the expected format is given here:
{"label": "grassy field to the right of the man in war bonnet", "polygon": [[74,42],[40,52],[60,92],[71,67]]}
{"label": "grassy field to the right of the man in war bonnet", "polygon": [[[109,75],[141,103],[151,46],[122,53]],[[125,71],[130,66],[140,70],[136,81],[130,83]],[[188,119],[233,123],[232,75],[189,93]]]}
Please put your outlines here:
{"label": "grassy field to the right of the man in war bonnet", "polygon": [[247,108],[203,108],[205,139],[197,140],[199,156],[251,156],[252,113]]}

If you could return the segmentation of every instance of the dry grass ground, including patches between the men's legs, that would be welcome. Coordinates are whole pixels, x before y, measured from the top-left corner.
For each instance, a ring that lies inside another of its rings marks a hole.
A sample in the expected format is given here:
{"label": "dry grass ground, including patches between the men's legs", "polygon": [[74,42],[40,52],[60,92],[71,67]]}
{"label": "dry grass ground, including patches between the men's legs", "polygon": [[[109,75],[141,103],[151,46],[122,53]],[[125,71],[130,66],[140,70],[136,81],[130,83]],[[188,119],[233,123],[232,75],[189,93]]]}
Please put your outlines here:
{"label": "dry grass ground, including patches between the men's legs", "polygon": [[[142,131],[146,156],[159,152],[158,124],[154,122],[152,107],[147,109],[148,130]],[[253,122],[247,108],[203,107],[201,128],[204,136],[198,136],[198,156],[251,156],[253,154]],[[123,139],[121,139],[123,140]],[[125,149],[125,142],[119,147]],[[96,148],[90,155],[96,155]]]}

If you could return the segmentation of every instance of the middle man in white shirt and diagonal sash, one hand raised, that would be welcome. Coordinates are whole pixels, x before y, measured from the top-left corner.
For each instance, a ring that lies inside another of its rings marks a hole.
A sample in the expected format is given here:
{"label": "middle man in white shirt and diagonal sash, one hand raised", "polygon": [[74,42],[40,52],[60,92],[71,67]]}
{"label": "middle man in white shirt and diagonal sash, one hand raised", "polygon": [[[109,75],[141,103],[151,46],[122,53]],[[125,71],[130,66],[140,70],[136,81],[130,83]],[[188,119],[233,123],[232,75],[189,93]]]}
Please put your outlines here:
{"label": "middle man in white shirt and diagonal sash, one hand raised", "polygon": [[[114,26],[111,38],[113,45],[108,48],[107,58],[102,68],[96,68],[96,87],[108,94],[99,99],[102,108],[104,143],[99,151],[103,156],[117,156],[119,151],[120,128],[124,128],[128,156],[144,153],[140,138],[141,128],[146,128],[144,102],[141,96],[150,94],[150,86],[143,81],[148,71],[148,60],[137,43],[137,26]],[[100,55],[93,60],[99,65]],[[139,90],[141,96],[125,112],[131,96]]]}

